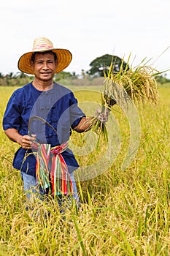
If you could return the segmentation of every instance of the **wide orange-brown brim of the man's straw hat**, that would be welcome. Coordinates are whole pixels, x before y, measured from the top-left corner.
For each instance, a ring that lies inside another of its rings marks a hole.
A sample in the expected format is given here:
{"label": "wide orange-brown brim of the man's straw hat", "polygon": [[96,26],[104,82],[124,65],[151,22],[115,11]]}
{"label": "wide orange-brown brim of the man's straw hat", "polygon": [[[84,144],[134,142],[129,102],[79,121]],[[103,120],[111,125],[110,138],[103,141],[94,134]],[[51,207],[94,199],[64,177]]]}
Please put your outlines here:
{"label": "wide orange-brown brim of the man's straw hat", "polygon": [[[66,49],[50,49],[57,55],[57,67],[55,69],[55,73],[61,72],[63,69],[69,66],[70,62],[72,61],[72,53]],[[48,50],[37,51],[37,53],[45,52]],[[31,56],[34,51],[24,53],[19,61],[18,61],[18,69],[21,72],[34,75],[34,71],[31,68]]]}

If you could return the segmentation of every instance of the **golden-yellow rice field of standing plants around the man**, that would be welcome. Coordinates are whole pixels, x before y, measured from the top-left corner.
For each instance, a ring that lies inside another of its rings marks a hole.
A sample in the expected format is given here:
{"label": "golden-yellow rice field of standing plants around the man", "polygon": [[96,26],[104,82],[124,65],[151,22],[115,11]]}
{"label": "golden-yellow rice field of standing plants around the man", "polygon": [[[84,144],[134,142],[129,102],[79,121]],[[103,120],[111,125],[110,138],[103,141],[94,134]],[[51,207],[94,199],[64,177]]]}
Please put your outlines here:
{"label": "golden-yellow rice field of standing plants around the man", "polygon": [[[0,87],[1,118],[14,89]],[[81,108],[92,115],[100,102],[100,88],[71,89]],[[52,199],[36,202],[33,211],[26,211],[20,172],[12,168],[18,145],[0,130],[1,256],[170,255],[170,87],[160,87],[159,94],[158,105],[136,109],[139,147],[125,170],[131,120],[120,108],[112,109],[107,124],[114,149],[101,138],[96,150],[93,132],[73,132],[70,147],[80,163],[75,175],[81,207],[77,210],[73,203],[65,214]],[[108,166],[107,157],[101,161],[106,151],[115,154]]]}

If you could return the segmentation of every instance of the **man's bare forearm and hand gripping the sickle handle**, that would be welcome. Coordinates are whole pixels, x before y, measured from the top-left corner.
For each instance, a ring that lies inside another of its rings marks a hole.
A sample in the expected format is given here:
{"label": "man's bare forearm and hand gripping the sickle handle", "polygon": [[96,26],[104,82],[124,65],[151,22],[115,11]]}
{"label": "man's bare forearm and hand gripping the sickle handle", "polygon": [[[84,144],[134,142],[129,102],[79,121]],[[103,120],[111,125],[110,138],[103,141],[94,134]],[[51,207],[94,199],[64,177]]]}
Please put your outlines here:
{"label": "man's bare forearm and hand gripping the sickle handle", "polygon": [[9,140],[18,143],[24,149],[31,148],[31,142],[36,139],[36,135],[20,135],[17,129],[6,129],[4,133],[7,135]]}

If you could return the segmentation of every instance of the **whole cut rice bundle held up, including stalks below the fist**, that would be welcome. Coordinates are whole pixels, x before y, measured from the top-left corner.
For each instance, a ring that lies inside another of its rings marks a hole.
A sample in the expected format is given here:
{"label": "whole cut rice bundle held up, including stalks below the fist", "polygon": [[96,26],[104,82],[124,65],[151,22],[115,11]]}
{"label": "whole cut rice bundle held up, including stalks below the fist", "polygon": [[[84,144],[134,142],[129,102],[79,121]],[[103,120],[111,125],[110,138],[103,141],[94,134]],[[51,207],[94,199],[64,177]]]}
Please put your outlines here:
{"label": "whole cut rice bundle held up, including stalks below the fist", "polygon": [[[130,56],[128,58],[129,62]],[[104,87],[101,91],[101,112],[112,110],[112,107],[117,104],[121,108],[128,107],[129,102],[139,105],[141,102],[157,103],[158,102],[158,86],[155,77],[162,72],[158,72],[148,65],[145,59],[135,69],[123,67],[124,61],[120,66],[119,72],[115,72],[114,63],[111,63],[108,72],[104,72]],[[99,135],[107,136],[107,127],[94,117],[91,123],[91,129]]]}

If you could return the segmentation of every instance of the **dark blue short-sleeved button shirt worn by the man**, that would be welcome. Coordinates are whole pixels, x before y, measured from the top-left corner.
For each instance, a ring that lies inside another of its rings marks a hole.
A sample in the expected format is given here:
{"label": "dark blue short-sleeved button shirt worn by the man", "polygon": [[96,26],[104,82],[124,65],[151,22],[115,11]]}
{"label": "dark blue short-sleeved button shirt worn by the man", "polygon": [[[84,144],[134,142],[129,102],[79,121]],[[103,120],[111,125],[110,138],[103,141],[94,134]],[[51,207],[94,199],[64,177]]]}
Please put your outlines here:
{"label": "dark blue short-sleeved button shirt worn by the man", "polygon": [[[56,132],[45,122],[31,116],[45,119]],[[28,132],[30,135],[36,134],[39,143],[48,143],[53,147],[68,141],[72,129],[84,116],[85,113],[77,106],[74,94],[66,87],[54,83],[53,89],[38,91],[32,83],[28,83],[14,91],[10,97],[4,113],[3,128],[17,129],[20,135],[28,135]],[[69,148],[63,151],[62,155],[70,173],[79,167]],[[36,176],[35,165],[36,158],[31,150],[19,148],[15,152],[13,167],[16,169]]]}

